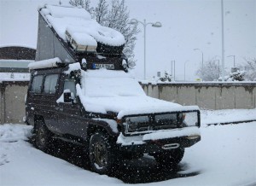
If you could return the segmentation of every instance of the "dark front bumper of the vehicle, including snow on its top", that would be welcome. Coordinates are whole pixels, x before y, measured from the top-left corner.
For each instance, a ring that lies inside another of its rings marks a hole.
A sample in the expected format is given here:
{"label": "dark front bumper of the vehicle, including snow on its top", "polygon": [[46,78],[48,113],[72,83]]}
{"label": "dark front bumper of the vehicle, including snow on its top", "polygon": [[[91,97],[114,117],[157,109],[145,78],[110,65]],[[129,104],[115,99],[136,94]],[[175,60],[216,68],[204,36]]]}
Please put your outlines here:
{"label": "dark front bumper of the vehicle, including snow on its top", "polygon": [[174,148],[189,148],[201,140],[200,131],[194,127],[183,129],[154,131],[149,134],[134,137],[119,135],[119,149],[131,153],[159,153]]}

